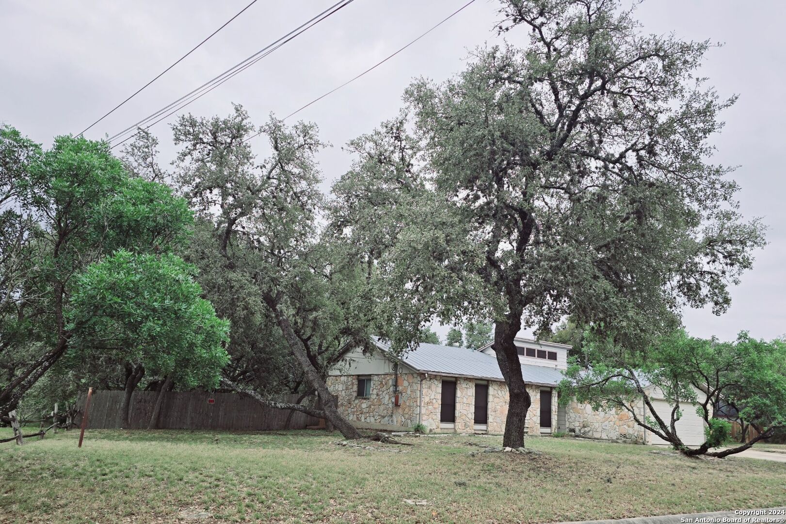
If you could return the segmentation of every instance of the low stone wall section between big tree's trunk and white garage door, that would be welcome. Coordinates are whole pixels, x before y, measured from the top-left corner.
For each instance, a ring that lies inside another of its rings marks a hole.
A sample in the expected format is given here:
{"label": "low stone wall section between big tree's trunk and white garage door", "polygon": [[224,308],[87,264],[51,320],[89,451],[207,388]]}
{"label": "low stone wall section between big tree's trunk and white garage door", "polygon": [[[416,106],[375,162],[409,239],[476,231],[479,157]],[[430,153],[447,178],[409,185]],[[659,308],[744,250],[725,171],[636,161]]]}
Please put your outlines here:
{"label": "low stone wall section between big tree's trunk and white garage door", "polygon": [[[641,405],[635,408],[641,410]],[[578,437],[644,443],[644,429],[624,410],[593,411],[589,404],[571,400],[565,408],[565,422],[568,433],[575,433]]]}

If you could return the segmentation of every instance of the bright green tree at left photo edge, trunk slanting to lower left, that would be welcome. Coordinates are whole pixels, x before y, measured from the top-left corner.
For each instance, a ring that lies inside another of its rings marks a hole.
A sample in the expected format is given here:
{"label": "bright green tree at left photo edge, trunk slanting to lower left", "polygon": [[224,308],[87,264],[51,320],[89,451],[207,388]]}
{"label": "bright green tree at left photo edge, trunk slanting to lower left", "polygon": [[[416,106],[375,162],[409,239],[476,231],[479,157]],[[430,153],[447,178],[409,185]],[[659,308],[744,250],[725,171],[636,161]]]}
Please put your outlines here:
{"label": "bright green tree at left photo edge, trunk slanting to lower left", "polygon": [[[9,157],[13,146],[2,147],[0,157]],[[15,336],[4,349],[13,370],[0,382],[0,417],[68,350],[75,276],[119,248],[163,253],[187,238],[191,222],[185,201],[167,187],[129,179],[107,142],[57,137],[18,164],[13,183],[18,208],[35,222],[25,237],[35,255],[25,257],[26,278],[14,291]]]}

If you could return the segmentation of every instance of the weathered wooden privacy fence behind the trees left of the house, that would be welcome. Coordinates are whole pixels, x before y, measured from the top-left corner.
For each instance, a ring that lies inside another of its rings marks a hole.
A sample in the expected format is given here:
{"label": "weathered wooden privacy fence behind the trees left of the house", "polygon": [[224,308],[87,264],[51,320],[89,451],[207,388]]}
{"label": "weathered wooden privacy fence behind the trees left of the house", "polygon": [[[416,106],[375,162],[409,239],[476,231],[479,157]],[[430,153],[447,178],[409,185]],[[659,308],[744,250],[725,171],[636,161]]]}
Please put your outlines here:
{"label": "weathered wooden privacy fence behind the trees left of the house", "polygon": [[[87,427],[108,429],[121,427],[118,412],[123,405],[123,391],[94,391],[90,399]],[[255,400],[236,393],[204,391],[167,392],[158,415],[159,429],[164,430],[284,430],[289,410],[263,407]],[[127,429],[147,429],[156,405],[156,391],[135,391],[130,403],[130,424]],[[296,402],[298,395],[285,395],[277,400]],[[84,409],[86,393],[79,393],[77,406]],[[209,402],[208,400],[212,400]],[[81,423],[81,416],[75,420]],[[320,419],[296,411],[289,425],[302,430],[316,426]],[[122,426],[126,427],[126,426]]]}

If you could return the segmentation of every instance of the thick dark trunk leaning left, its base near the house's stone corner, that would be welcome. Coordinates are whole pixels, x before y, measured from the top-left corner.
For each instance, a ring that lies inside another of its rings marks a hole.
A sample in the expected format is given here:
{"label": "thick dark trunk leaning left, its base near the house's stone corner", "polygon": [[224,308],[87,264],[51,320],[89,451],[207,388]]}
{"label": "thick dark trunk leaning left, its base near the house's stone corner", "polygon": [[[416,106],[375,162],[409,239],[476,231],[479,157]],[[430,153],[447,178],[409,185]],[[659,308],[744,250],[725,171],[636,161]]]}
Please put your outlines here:
{"label": "thick dark trunk leaning left, its base near the house's stone corner", "polygon": [[[300,339],[295,334],[295,331],[292,330],[292,325],[289,323],[289,319],[287,319],[287,317],[281,313],[278,308],[278,304],[274,301],[273,298],[265,297],[265,301],[276,316],[278,327],[280,327],[281,331],[284,333],[284,338],[287,341],[289,350],[292,352],[292,356],[295,356],[295,360],[297,360],[297,362],[300,364],[300,367],[303,369],[303,375],[305,375],[306,381],[308,382],[309,386],[311,386],[311,388],[317,392],[317,395],[322,401],[322,410],[325,411],[325,418],[327,418],[329,422],[332,423],[336,430],[341,432],[344,438],[362,438],[362,435],[358,429],[353,426],[350,421],[345,419],[343,415],[340,414],[336,405],[336,397],[330,393],[327,384],[325,384],[325,381],[322,380],[319,372],[314,367],[314,364],[308,360],[306,348],[303,346],[303,342],[300,341]],[[521,374],[521,371],[519,371],[519,374]]]}

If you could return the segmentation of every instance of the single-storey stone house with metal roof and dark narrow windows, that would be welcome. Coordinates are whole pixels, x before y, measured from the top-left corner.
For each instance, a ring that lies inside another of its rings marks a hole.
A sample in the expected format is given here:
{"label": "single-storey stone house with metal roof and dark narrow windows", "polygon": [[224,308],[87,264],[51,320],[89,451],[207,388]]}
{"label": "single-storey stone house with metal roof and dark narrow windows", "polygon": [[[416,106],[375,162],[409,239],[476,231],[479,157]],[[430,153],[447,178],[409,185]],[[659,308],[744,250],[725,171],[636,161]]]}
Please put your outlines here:
{"label": "single-storey stone house with metal roof and dark narrow windows", "polygon": [[[410,430],[422,424],[432,432],[501,434],[508,415],[508,389],[493,345],[477,350],[420,344],[401,358],[374,339],[376,351],[350,352],[329,372],[328,387],[340,412],[358,426]],[[584,437],[666,444],[634,423],[626,411],[595,411],[571,400],[557,403],[556,386],[567,369],[570,346],[516,338],[519,360],[532,404],[527,434],[560,431]],[[660,415],[670,417],[663,393],[650,389]],[[645,416],[643,403],[641,417]],[[683,409],[678,434],[686,445],[703,442],[704,423],[694,410]]]}

